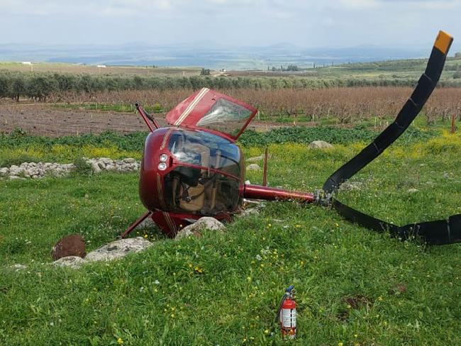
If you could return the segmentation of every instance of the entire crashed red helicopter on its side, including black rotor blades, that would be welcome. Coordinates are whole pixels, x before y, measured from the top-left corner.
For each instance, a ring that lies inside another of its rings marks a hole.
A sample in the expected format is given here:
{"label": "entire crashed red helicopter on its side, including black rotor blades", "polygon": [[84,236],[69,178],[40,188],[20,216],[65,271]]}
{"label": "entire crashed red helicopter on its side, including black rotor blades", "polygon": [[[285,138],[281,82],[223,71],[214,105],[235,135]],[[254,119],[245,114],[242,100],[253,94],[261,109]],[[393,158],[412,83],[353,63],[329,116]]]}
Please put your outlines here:
{"label": "entire crashed red helicopter on its side, including black rotor blades", "polygon": [[329,206],[348,221],[379,232],[428,244],[461,242],[461,214],[446,220],[398,226],[346,206],[335,199],[341,184],[378,157],[409,127],[435,89],[452,44],[443,31],[433,45],[426,71],[406,104],[381,134],[358,155],[331,174],[316,193],[287,191],[245,184],[245,164],[235,140],[243,133],[257,109],[217,91],[203,88],[167,113],[160,125],[144,109],[136,108],[150,130],[145,140],[140,169],[139,194],[146,213],[121,235],[126,237],[146,218],[173,237],[182,227],[203,216],[229,221],[243,199],[296,200]]}

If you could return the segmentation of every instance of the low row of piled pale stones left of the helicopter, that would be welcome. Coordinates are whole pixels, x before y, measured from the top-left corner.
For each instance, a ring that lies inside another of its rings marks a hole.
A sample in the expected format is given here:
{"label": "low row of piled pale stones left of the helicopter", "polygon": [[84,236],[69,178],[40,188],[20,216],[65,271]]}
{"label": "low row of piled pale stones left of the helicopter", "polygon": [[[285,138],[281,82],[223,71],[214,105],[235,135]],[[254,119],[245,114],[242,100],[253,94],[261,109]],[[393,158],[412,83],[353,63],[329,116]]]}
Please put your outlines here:
{"label": "low row of piled pale stones left of the helicopter", "polygon": [[[118,172],[133,172],[140,167],[140,162],[128,157],[123,160],[112,160],[107,157],[86,160],[95,173],[103,170]],[[69,174],[75,166],[72,163],[59,164],[56,162],[23,162],[19,166],[13,164],[11,167],[1,167],[0,177],[9,177],[9,179],[32,178],[37,179],[52,175],[62,177]]]}

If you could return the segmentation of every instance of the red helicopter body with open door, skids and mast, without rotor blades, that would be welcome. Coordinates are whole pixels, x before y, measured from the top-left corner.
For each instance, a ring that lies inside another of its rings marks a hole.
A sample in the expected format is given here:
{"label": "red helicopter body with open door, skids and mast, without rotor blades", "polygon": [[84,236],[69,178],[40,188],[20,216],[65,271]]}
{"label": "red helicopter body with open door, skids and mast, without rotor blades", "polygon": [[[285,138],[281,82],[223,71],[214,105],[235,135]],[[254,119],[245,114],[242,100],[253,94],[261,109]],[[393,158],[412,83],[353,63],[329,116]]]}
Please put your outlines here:
{"label": "red helicopter body with open door, skids and mast, without rotor blades", "polygon": [[243,198],[314,201],[313,194],[244,184],[245,161],[235,140],[257,113],[248,104],[204,88],[167,114],[173,125],[167,128],[138,111],[151,130],[139,182],[148,213],[140,220],[151,216],[166,235],[203,216],[228,221]]}

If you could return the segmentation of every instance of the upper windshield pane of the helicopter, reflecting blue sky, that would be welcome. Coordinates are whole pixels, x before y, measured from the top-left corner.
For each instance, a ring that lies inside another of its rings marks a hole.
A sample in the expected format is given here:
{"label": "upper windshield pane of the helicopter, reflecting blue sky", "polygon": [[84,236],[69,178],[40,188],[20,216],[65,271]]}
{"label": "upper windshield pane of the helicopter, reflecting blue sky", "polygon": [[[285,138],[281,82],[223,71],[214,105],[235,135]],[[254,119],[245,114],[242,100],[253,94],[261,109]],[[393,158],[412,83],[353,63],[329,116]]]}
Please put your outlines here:
{"label": "upper windshield pane of the helicopter, reflecting blue sky", "polygon": [[226,138],[199,130],[174,130],[168,150],[179,162],[240,177],[240,149]]}

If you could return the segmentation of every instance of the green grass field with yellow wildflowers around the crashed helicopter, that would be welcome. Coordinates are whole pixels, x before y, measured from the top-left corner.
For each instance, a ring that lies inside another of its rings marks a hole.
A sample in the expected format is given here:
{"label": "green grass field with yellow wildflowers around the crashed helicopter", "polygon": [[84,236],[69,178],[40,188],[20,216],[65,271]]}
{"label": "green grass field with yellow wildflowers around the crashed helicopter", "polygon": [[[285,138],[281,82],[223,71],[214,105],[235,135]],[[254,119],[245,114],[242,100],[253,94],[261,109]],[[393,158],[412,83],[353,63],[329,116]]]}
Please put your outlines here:
{"label": "green grass field with yellow wildflowers around the crashed helicopter", "polygon": [[[283,134],[267,135],[270,185],[320,188],[370,135],[328,131],[317,135],[335,143],[331,150],[274,144]],[[1,155],[21,150],[18,143],[49,159],[49,148],[61,145],[54,158],[70,161],[85,145],[87,153],[106,147],[104,155],[114,158],[142,147],[141,135],[126,142],[106,136],[4,136]],[[245,157],[267,144],[251,136],[243,141]],[[343,191],[340,200],[401,225],[461,213],[460,150],[460,135],[413,128],[352,179],[360,190]],[[262,174],[247,178],[257,184]],[[236,218],[226,233],[174,241],[143,230],[139,235],[155,245],[141,254],[62,269],[50,265],[59,238],[79,233],[94,250],[143,213],[138,174],[0,180],[0,186],[0,345],[279,345],[273,319],[289,284],[298,291],[299,316],[298,338],[287,345],[461,342],[460,245],[401,242],[328,208],[277,202]]]}

